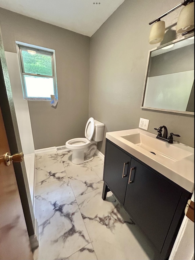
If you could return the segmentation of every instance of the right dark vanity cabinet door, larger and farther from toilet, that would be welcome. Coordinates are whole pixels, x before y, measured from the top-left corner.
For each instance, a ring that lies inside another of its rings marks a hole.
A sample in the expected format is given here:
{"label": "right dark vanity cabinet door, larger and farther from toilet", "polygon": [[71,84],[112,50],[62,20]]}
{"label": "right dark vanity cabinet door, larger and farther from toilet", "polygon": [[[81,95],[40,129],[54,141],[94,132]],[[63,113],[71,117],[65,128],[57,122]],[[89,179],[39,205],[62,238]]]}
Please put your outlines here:
{"label": "right dark vanity cabinet door, larger and farther from toilet", "polygon": [[181,191],[136,160],[131,160],[132,174],[127,184],[124,206],[161,251]]}

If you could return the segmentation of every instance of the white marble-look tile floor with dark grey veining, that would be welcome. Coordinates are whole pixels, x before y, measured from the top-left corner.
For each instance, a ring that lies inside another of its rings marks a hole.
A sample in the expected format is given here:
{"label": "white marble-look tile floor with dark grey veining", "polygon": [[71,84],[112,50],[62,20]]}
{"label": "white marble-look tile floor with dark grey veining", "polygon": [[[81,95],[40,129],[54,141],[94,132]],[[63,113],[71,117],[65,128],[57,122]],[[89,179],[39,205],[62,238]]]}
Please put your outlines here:
{"label": "white marble-look tile floor with dark grey veining", "polygon": [[34,260],[147,260],[153,253],[111,192],[102,200],[103,161],[76,165],[72,152],[36,157]]}

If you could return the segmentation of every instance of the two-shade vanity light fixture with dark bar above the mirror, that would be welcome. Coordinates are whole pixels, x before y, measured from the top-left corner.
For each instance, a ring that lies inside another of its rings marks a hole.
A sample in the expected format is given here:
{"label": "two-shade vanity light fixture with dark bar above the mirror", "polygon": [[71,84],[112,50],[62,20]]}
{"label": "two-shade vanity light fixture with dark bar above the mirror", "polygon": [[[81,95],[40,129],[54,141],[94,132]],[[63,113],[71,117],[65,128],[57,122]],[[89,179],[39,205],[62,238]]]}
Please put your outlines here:
{"label": "two-shade vanity light fixture with dark bar above the mirror", "polygon": [[[181,6],[184,7],[179,14],[176,32],[181,33],[182,35],[186,35],[194,31],[194,0],[183,0],[181,4],[173,7],[171,10],[149,23],[150,25],[154,23],[150,31],[150,44],[161,42],[164,38],[165,22],[161,21],[161,18],[168,15],[169,13],[172,13]],[[162,22],[164,22],[164,25]]]}

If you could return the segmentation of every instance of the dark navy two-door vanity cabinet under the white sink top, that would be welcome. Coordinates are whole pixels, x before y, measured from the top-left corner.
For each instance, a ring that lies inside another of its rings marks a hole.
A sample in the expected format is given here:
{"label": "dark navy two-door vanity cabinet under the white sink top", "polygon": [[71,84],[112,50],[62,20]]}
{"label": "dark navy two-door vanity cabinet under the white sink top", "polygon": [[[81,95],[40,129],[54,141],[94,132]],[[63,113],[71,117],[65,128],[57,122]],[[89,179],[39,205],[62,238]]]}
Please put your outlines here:
{"label": "dark navy two-door vanity cabinet under the white sink top", "polygon": [[103,180],[102,198],[111,190],[151,242],[155,259],[168,259],[192,193],[108,139]]}

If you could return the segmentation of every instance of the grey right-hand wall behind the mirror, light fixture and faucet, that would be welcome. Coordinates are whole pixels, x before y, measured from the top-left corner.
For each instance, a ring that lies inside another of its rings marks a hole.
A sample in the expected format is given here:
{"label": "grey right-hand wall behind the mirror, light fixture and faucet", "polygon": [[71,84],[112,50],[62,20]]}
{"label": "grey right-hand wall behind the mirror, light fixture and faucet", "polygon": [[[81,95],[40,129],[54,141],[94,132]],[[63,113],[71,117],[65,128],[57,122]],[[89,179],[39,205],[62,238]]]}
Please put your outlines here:
{"label": "grey right-hand wall behind the mirror, light fixture and faucet", "polygon": [[[180,3],[173,1],[126,0],[90,39],[89,116],[105,123],[105,133],[138,128],[140,117],[150,119],[148,132],[166,125],[180,134],[176,141],[194,146],[194,117],[141,109],[141,98],[150,45],[148,24]],[[165,42],[176,37],[180,9],[165,16]],[[181,36],[180,36],[181,37]],[[105,152],[105,138],[98,143]]]}

